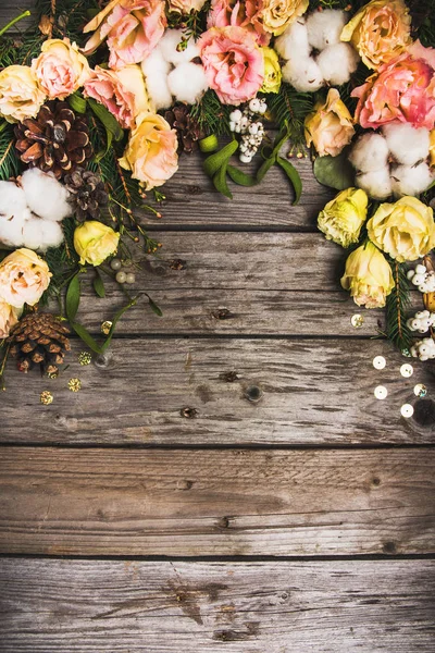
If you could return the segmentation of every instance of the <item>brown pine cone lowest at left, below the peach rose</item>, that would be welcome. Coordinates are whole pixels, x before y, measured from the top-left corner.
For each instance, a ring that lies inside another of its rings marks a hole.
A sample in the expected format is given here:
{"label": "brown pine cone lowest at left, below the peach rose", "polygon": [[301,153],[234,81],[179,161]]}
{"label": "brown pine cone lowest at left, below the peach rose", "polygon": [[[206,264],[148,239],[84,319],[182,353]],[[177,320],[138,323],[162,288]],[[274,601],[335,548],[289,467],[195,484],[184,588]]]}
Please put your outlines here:
{"label": "brown pine cone lowest at left, below the peach rose", "polygon": [[42,374],[55,374],[65,352],[71,349],[69,333],[55,316],[32,312],[15,325],[7,343],[11,343],[10,353],[17,359],[21,372],[28,372],[39,364]]}

